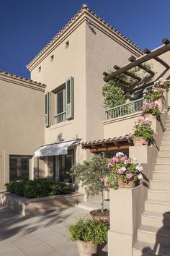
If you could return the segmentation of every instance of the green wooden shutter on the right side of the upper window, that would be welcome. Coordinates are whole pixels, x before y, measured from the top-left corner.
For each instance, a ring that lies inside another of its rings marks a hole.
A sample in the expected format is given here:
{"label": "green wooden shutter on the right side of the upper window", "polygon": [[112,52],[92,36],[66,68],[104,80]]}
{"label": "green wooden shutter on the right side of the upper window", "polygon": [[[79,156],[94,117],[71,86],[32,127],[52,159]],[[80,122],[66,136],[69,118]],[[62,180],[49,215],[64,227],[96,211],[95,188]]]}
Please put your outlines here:
{"label": "green wooden shutter on the right side of the upper window", "polygon": [[73,77],[66,80],[66,119],[73,119]]}

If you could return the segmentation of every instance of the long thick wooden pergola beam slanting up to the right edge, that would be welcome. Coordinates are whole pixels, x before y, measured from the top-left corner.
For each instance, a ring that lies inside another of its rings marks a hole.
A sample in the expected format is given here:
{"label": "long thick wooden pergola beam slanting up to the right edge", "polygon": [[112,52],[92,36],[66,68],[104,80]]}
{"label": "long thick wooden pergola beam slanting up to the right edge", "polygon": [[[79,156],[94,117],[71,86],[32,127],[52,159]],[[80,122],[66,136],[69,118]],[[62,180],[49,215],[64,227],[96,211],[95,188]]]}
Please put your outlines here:
{"label": "long thick wooden pergola beam slanting up to the right edge", "polygon": [[135,60],[134,62],[125,65],[125,67],[122,67],[121,69],[108,74],[107,76],[104,77],[104,81],[108,82],[111,78],[117,76],[117,74],[124,73],[124,72],[128,71],[129,69],[133,69],[133,67],[136,67],[139,64],[142,64],[143,62],[149,61],[150,59],[153,59],[161,54],[164,54],[169,50],[170,50],[170,43],[160,46],[156,50],[151,51],[150,54],[145,54],[145,55],[141,56],[140,58],[138,58],[137,60]]}

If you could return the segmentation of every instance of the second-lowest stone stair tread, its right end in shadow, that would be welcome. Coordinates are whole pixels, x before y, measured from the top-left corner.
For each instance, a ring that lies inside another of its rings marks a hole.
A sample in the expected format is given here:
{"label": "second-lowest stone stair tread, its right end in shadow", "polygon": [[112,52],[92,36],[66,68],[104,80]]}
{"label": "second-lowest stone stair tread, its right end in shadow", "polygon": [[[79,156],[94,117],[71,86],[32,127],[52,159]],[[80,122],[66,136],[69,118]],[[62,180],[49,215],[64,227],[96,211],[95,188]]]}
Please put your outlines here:
{"label": "second-lowest stone stair tread, its right end in shadow", "polygon": [[[170,239],[170,230],[169,229],[164,229],[163,227],[158,228],[155,226],[140,226],[140,228],[138,229],[138,231],[143,231],[143,232],[147,232],[147,233],[152,233],[152,234],[158,234],[160,236],[169,236]],[[169,243],[170,245],[170,243]]]}

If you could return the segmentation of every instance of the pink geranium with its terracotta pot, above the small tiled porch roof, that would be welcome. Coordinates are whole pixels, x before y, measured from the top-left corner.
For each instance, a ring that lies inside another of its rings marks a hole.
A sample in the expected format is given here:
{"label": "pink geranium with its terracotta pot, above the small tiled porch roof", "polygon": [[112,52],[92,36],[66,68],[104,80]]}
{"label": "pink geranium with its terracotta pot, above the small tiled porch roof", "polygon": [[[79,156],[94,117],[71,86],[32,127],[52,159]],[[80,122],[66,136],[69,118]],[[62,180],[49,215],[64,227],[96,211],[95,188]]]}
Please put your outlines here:
{"label": "pink geranium with its terracotta pot, above the small tiled porch roof", "polygon": [[151,128],[152,122],[148,118],[141,116],[135,121],[133,127],[133,134],[130,135],[133,138],[134,145],[148,145],[153,143],[156,132]]}

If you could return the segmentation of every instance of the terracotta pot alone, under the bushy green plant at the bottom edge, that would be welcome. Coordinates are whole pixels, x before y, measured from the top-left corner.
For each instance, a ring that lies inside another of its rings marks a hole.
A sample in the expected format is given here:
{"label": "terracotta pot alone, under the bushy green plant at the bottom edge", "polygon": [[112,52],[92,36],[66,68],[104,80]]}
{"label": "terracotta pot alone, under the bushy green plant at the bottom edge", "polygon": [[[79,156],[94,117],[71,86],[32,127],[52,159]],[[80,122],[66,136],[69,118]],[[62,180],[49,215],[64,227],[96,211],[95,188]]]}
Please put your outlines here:
{"label": "terracotta pot alone, under the bushy green plant at the bottom edge", "polygon": [[97,244],[93,244],[91,241],[76,241],[79,249],[79,256],[91,256],[97,254]]}

